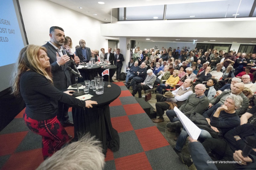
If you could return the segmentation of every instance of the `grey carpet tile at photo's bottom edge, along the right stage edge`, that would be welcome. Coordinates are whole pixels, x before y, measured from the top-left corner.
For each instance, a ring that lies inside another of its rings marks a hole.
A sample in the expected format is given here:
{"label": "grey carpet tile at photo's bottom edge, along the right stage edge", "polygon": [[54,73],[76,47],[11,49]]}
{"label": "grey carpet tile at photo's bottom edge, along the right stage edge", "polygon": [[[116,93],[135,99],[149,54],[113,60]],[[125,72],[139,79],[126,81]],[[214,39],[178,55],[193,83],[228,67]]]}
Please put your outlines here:
{"label": "grey carpet tile at photo's bottom edge, along the right stage edge", "polygon": [[[181,163],[178,155],[170,145],[145,152],[148,161],[154,170],[179,169],[187,170],[185,164]],[[168,163],[166,163],[168,161]]]}

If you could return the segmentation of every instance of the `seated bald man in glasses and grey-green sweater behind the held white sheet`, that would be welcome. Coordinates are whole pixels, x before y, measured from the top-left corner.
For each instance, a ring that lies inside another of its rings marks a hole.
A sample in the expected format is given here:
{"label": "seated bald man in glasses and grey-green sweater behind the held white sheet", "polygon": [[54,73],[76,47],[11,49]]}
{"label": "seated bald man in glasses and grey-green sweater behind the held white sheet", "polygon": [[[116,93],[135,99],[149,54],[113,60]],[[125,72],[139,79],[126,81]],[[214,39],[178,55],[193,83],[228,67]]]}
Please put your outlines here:
{"label": "seated bald man in glasses and grey-green sweater behind the held white sheet", "polygon": [[[179,110],[188,117],[194,112],[203,113],[207,109],[207,105],[209,105],[209,99],[204,94],[205,89],[206,88],[203,84],[196,85],[196,94],[191,94],[185,103],[180,106]],[[179,133],[181,132],[180,128],[183,128],[183,125],[181,124],[174,110],[167,110],[166,115],[170,119],[170,122],[166,124],[166,127],[171,128],[169,129],[171,132],[176,131],[174,140],[177,140]]]}

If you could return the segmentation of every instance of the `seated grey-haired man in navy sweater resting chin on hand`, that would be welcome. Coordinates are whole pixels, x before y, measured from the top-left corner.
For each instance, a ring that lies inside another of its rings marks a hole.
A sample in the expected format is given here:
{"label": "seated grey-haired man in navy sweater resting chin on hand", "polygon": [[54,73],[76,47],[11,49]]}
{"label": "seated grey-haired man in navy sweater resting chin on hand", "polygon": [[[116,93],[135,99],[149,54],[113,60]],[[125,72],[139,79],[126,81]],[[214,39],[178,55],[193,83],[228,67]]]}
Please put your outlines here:
{"label": "seated grey-haired man in navy sweater resting chin on hand", "polygon": [[[224,105],[217,104],[212,109],[204,112],[203,115],[197,112],[193,113],[190,116],[190,120],[202,130],[199,135],[200,139],[216,138],[220,136],[216,134],[216,132],[224,135],[228,130],[239,126],[240,119],[236,114],[236,109],[242,107],[242,102],[243,99],[241,96],[228,95]],[[208,124],[206,124],[206,121]],[[175,151],[181,151],[187,137],[188,133],[185,128],[183,128],[176,142]]]}

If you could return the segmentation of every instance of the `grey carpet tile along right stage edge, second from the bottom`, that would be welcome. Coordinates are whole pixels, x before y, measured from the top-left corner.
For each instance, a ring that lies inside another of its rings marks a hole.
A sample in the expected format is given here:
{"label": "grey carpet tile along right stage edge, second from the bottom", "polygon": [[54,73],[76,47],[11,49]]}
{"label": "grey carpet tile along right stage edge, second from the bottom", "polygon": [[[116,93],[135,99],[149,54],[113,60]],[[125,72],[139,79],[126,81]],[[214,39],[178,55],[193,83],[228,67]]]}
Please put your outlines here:
{"label": "grey carpet tile along right stage edge, second from the bottom", "polygon": [[132,123],[132,127],[134,130],[154,126],[154,123],[151,121],[146,113],[128,115],[128,118]]}

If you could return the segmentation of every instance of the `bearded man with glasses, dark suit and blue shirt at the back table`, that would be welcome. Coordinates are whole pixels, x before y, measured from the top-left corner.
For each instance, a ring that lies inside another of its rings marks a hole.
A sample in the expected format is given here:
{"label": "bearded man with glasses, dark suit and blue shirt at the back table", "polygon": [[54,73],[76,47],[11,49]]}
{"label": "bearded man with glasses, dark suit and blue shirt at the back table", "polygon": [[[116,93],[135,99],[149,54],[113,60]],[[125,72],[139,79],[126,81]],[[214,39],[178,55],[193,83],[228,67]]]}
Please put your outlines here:
{"label": "bearded man with glasses, dark suit and blue shirt at the back table", "polygon": [[80,59],[80,63],[88,63],[89,61],[92,61],[92,53],[91,49],[89,47],[85,47],[85,41],[80,40],[79,45],[80,47],[76,48],[76,55]]}

